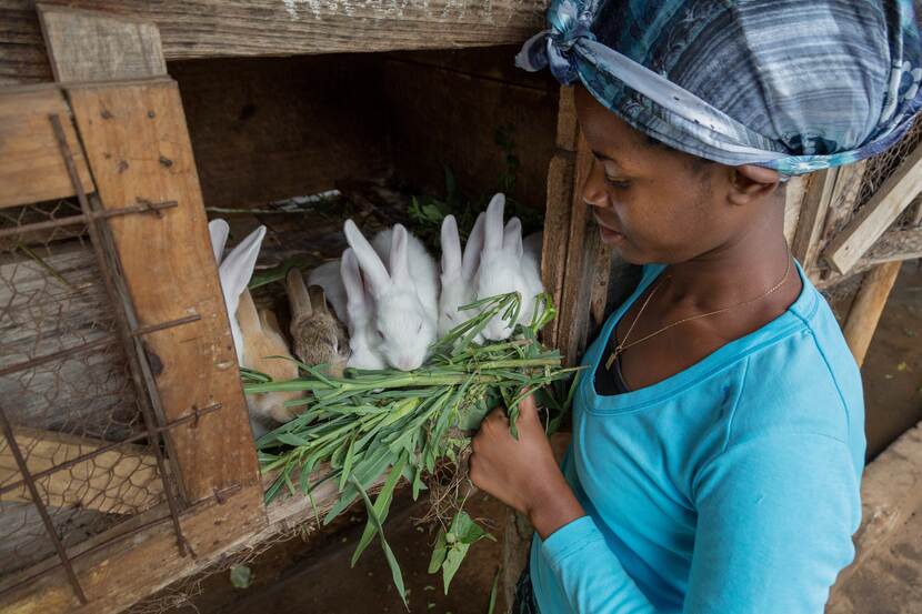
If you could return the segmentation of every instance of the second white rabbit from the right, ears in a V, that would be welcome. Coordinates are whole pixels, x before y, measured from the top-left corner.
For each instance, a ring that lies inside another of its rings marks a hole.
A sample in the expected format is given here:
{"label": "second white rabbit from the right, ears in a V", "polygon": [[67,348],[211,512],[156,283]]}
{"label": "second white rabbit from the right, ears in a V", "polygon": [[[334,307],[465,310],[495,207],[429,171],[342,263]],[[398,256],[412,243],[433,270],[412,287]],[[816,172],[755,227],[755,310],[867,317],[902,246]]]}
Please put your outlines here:
{"label": "second white rabbit from the right, ears in a V", "polygon": [[463,324],[474,315],[475,310],[458,308],[474,301],[474,278],[480,265],[483,249],[483,213],[478,215],[474,228],[461,254],[461,236],[454,215],[442,221],[442,291],[439,294],[439,336]]}

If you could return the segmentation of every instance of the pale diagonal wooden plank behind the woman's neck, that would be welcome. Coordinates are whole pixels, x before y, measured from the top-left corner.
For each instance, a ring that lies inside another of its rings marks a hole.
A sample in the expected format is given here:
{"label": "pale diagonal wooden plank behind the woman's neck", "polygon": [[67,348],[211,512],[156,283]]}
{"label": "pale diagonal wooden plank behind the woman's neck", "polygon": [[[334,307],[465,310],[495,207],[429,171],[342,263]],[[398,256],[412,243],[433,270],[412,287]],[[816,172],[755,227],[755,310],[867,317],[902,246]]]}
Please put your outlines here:
{"label": "pale diagonal wooden plank behind the woman's neck", "polygon": [[922,145],[918,145],[861,208],[854,220],[833,239],[823,255],[840,273],[846,273],[900,213],[922,191]]}

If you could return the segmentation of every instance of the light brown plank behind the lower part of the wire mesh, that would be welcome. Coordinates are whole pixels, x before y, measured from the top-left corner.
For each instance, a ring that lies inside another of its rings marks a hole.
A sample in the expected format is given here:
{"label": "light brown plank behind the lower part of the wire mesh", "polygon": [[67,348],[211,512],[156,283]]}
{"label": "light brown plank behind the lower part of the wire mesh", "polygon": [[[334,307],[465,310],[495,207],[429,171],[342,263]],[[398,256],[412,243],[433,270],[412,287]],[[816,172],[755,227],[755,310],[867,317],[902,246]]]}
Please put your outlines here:
{"label": "light brown plank behind the lower part of the wire mesh", "polygon": [[[31,474],[50,470],[109,445],[110,442],[78,437],[39,429],[13,427],[16,442],[26,455]],[[21,480],[9,446],[0,450],[0,484]],[[122,444],[66,470],[37,481],[46,505],[81,507],[106,514],[137,514],[161,502],[163,482],[157,460],[146,447]],[[0,501],[30,502],[23,484],[0,494]]]}

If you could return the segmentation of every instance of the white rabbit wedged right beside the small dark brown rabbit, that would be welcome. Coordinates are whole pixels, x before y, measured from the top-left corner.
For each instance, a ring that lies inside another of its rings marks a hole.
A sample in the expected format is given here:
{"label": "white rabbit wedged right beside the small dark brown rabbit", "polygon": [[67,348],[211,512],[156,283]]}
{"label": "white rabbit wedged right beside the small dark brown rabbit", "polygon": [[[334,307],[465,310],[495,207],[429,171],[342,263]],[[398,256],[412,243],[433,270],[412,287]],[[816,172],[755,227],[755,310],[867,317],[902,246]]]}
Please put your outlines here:
{"label": "white rabbit wedged right beside the small dark brown rabbit", "polygon": [[373,332],[374,304],[362,282],[359,261],[351,249],[342,253],[340,270],[349,324],[350,354],[345,365],[353,369],[384,369],[384,359],[377,350],[378,336]]}

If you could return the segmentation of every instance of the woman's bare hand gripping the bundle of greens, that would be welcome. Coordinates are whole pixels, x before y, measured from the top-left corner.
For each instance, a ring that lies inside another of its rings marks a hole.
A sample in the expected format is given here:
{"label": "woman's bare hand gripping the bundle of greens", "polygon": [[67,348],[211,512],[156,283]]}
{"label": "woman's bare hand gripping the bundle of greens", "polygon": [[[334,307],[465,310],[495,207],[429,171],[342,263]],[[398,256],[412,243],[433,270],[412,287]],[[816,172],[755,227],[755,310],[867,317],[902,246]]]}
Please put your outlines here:
{"label": "woman's bare hand gripping the bundle of greens", "polygon": [[487,416],[473,440],[471,481],[525,514],[545,538],[585,512],[558,467],[533,396],[519,403],[515,426],[518,441],[502,407]]}

